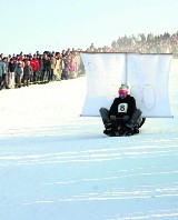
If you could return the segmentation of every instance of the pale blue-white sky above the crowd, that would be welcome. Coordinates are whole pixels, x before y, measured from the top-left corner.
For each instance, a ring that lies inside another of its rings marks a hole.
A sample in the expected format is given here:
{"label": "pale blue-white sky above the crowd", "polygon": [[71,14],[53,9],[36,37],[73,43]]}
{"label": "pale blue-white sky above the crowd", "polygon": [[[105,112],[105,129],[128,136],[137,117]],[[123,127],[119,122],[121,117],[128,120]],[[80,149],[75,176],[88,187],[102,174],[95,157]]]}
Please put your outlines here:
{"label": "pale blue-white sky above the crowd", "polygon": [[109,46],[178,31],[178,0],[0,0],[0,53]]}

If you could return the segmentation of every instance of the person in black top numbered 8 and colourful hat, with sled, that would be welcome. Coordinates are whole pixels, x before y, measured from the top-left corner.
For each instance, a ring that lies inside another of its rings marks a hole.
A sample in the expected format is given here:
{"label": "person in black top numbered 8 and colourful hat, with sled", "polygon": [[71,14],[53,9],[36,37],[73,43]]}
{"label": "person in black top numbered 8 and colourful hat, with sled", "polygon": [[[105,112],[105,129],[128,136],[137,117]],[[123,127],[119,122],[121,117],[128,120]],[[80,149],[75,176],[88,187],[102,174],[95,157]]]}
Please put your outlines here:
{"label": "person in black top numbered 8 and colourful hat, with sled", "polygon": [[121,84],[119,97],[113,100],[110,110],[100,108],[103,121],[103,133],[110,137],[132,136],[139,133],[139,128],[144,124],[141,111],[136,107],[136,100],[128,94],[128,87]]}

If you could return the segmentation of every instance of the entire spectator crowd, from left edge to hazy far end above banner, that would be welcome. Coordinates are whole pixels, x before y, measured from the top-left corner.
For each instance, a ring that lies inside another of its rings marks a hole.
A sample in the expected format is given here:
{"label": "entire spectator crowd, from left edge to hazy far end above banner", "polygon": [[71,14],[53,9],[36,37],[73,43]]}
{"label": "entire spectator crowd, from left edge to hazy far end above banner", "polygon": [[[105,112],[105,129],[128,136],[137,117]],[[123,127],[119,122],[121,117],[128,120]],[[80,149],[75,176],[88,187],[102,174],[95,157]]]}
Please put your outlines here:
{"label": "entire spectator crowd, from left edge to hazy far end above banner", "polygon": [[96,48],[93,43],[87,49],[75,48],[61,52],[37,51],[31,54],[0,53],[0,90],[29,87],[31,83],[47,83],[77,78],[85,73],[80,52],[137,52],[172,53],[178,57],[178,31],[174,34],[145,34],[119,37],[111,46]]}

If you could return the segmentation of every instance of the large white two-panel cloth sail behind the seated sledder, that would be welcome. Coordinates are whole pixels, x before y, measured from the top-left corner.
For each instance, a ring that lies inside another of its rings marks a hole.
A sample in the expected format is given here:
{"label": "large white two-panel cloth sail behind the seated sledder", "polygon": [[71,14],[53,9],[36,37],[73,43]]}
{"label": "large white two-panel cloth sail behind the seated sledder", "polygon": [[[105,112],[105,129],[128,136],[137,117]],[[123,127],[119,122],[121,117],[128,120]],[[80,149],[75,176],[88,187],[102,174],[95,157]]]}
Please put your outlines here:
{"label": "large white two-panel cloth sail behind the seated sledder", "polygon": [[171,117],[169,71],[171,54],[81,53],[87,74],[87,94],[81,116],[100,116],[110,108],[118,88],[126,83],[142,117]]}

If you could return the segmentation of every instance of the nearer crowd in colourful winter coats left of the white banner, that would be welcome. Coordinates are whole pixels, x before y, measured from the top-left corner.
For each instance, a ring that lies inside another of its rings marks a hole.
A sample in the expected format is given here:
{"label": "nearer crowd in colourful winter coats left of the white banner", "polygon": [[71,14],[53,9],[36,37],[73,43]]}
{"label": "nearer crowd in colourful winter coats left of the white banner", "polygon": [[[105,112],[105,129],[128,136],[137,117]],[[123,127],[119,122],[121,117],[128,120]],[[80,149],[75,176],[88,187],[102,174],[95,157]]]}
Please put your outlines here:
{"label": "nearer crowd in colourful winter coats left of the white banner", "polygon": [[37,51],[31,54],[0,54],[0,90],[75,79],[81,74],[80,53],[76,49],[62,52]]}

